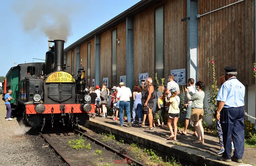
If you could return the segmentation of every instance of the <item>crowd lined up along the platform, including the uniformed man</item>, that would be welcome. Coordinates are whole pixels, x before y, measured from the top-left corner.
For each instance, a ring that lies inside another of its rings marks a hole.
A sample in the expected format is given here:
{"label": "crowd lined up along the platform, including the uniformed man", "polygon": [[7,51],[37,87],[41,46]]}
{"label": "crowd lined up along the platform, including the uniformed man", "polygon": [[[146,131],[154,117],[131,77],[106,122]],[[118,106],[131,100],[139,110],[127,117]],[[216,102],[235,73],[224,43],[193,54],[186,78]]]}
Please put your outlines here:
{"label": "crowd lined up along the platform, including the uniformed man", "polygon": [[[220,161],[226,162],[242,162],[244,153],[244,85],[236,79],[236,68],[225,67],[225,76],[220,77],[220,90],[217,95],[218,110],[215,113],[216,128],[220,141],[220,149],[217,154],[222,154]],[[133,93],[131,89],[125,87],[121,82],[118,87],[113,87],[113,94],[110,93],[106,85],[90,88],[90,95],[92,103],[95,103],[95,113],[102,118],[107,117],[107,104],[109,102],[108,96],[111,96],[110,108],[113,109],[113,120],[117,121],[119,115],[120,126],[123,126],[125,121],[124,110],[127,115],[128,126],[136,124],[136,112],[139,118],[138,125],[144,127],[146,118],[148,118],[149,125],[145,130],[153,130],[156,127],[165,128],[164,123],[170,130],[170,136],[167,140],[177,141],[177,133],[187,135],[189,121],[193,122],[195,132],[193,133],[198,139],[192,143],[204,144],[204,128],[202,120],[204,117],[204,82],[189,78],[184,91],[186,92],[187,102],[185,103],[186,117],[184,130],[178,131],[177,122],[180,117],[180,88],[174,81],[174,76],[168,77],[167,87],[163,85],[157,88],[156,96],[154,94],[154,86],[152,78],[147,78],[142,82],[142,89],[135,85]],[[141,91],[144,91],[142,94]],[[165,92],[164,92],[165,91]],[[104,97],[105,96],[105,97]],[[132,107],[132,121],[130,113],[130,98],[133,97]],[[156,98],[156,109],[153,111],[154,99]],[[142,102],[143,101],[143,102]],[[118,114],[119,113],[119,114]],[[154,120],[155,119],[155,120]],[[231,157],[231,149],[235,149],[234,155]]]}

